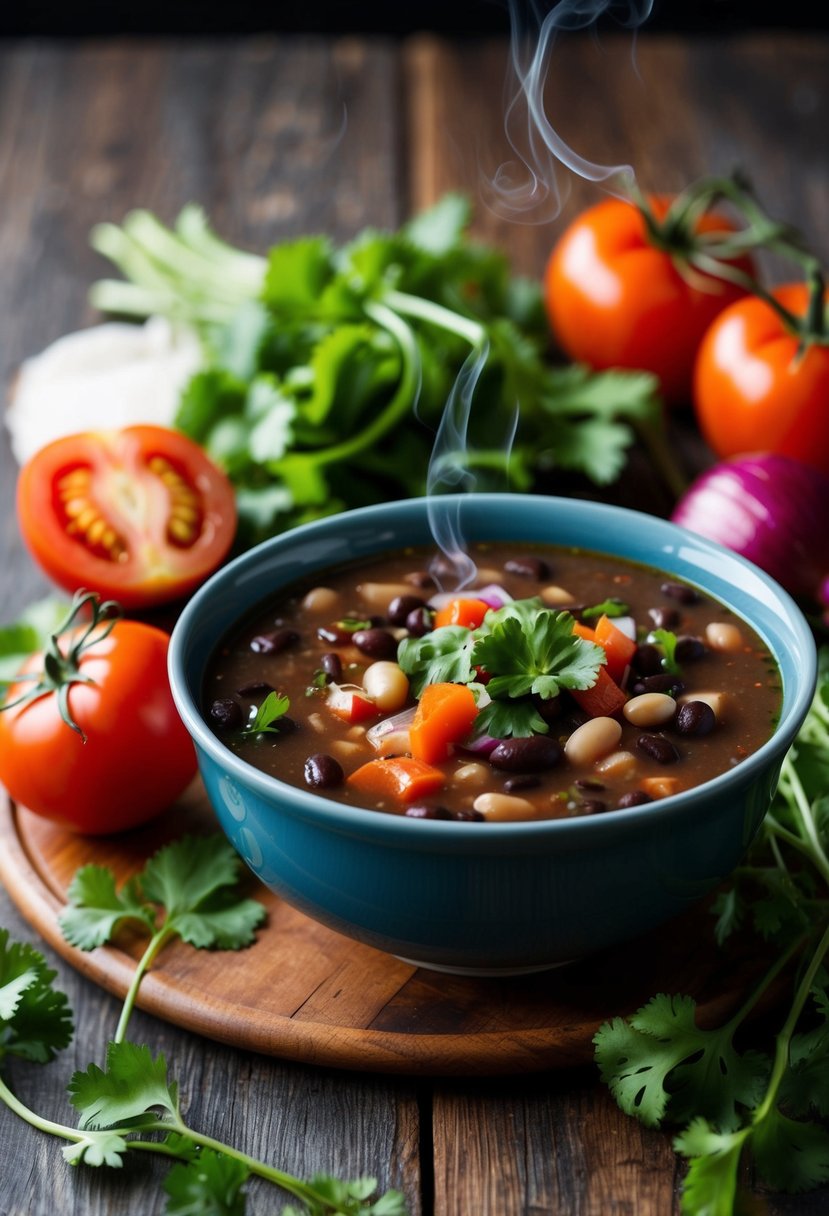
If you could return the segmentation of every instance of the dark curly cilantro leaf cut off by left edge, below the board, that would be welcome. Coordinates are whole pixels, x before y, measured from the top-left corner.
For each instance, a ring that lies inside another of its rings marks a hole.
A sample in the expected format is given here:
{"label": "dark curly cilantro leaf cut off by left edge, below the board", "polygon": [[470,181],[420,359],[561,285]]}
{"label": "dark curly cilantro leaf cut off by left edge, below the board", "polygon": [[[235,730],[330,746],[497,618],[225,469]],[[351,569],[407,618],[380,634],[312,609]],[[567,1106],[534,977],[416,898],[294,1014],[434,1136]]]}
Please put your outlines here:
{"label": "dark curly cilantro leaf cut off by left edge, below the board", "polygon": [[46,1064],[71,1042],[72,1012],[55,975],[39,951],[0,929],[0,1063],[17,1055]]}

